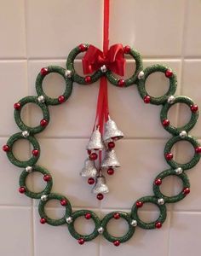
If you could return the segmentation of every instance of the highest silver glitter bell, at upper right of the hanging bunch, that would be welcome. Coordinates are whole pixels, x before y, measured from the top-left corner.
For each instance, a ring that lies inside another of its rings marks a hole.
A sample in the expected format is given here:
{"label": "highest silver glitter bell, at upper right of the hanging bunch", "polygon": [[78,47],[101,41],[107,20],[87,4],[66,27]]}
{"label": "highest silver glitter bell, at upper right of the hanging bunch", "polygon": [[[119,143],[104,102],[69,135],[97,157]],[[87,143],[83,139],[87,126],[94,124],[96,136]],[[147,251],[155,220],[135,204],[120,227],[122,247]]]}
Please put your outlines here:
{"label": "highest silver glitter bell, at upper right of the hanging bunch", "polygon": [[123,132],[118,130],[117,125],[112,119],[108,119],[105,125],[105,133],[103,135],[103,141],[108,142],[112,140],[119,140],[123,138]]}

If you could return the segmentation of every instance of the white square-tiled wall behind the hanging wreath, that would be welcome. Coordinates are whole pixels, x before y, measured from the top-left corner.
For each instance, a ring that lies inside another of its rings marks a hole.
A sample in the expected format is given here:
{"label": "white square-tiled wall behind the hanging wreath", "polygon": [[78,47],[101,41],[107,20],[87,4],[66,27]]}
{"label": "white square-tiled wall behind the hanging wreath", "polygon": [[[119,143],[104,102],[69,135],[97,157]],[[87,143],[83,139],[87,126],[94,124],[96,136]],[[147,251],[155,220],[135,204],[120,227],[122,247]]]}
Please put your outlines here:
{"label": "white square-tiled wall behind the hanging wreath", "polygon": [[[65,67],[66,55],[77,44],[89,42],[101,47],[102,7],[103,0],[0,1],[1,145],[9,135],[19,131],[14,124],[13,104],[24,96],[35,95],[35,79],[41,67],[51,64]],[[200,0],[111,0],[110,44],[135,46],[144,57],[145,67],[155,63],[172,67],[178,76],[176,95],[190,96],[199,105],[200,14]],[[76,67],[82,73],[80,59]],[[129,60],[126,76],[133,70],[134,64]],[[58,96],[63,83],[59,75],[49,75],[43,88],[49,95]],[[168,88],[167,79],[160,74],[152,75],[146,85],[153,96],[162,95]],[[49,169],[54,177],[53,190],[66,195],[75,209],[90,208],[104,215],[114,209],[129,211],[137,198],[152,194],[153,178],[168,167],[163,149],[169,133],[160,125],[160,107],[144,104],[135,86],[121,89],[109,84],[110,112],[126,138],[117,143],[122,167],[113,177],[107,177],[111,193],[102,203],[96,201],[78,172],[86,157],[84,148],[95,119],[98,86],[98,83],[86,87],[75,84],[65,104],[49,108],[51,122],[38,136],[42,148],[38,164]],[[169,113],[175,125],[189,119],[187,108],[179,107]],[[40,109],[30,104],[23,111],[23,119],[30,125],[37,124],[41,119]],[[200,124],[198,121],[191,131],[199,139]],[[180,161],[192,154],[187,143],[179,143],[175,150]],[[14,154],[27,159],[30,148],[26,143],[17,143]],[[135,236],[120,247],[114,247],[102,237],[80,247],[65,225],[56,228],[39,223],[38,201],[17,192],[20,168],[12,166],[5,154],[0,153],[0,255],[197,256],[201,232],[200,167],[187,174],[192,193],[184,201],[168,206],[163,229],[137,229]],[[40,175],[28,180],[30,189],[42,189],[43,185]],[[163,191],[167,195],[179,189],[176,178],[164,182]],[[55,202],[49,204],[48,212],[53,217],[63,214]],[[148,221],[157,214],[155,208],[147,206],[141,217]],[[80,220],[77,228],[89,232],[91,225]],[[112,222],[109,229],[114,234],[123,234],[126,226],[119,220]]]}

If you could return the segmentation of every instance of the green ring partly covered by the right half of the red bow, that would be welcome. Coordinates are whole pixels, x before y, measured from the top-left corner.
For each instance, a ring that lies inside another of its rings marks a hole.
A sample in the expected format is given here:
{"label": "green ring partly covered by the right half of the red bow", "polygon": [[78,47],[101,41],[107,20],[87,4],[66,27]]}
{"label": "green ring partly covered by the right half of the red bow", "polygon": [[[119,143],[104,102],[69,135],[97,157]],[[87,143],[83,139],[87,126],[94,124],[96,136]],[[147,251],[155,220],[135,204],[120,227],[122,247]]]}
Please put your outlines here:
{"label": "green ring partly covered by the right half of the red bow", "polygon": [[[137,76],[138,74],[142,71],[143,69],[143,64],[142,64],[142,59],[141,59],[141,55],[140,53],[136,50],[136,49],[130,49],[129,51],[129,55],[131,55],[136,63],[136,68],[135,68],[135,73],[129,78],[129,79],[125,79],[125,86],[124,87],[128,87],[132,84],[135,84],[136,80],[137,80]],[[118,86],[118,80],[111,71],[107,71],[106,72],[106,78],[110,81],[111,84]]]}

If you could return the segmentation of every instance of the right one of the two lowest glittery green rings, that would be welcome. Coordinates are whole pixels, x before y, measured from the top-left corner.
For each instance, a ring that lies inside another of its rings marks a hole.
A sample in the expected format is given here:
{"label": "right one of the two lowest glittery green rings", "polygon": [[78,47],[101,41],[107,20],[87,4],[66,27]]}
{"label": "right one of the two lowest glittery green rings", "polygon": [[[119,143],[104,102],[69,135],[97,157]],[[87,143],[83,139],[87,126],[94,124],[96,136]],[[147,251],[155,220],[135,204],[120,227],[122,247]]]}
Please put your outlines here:
{"label": "right one of the two lowest glittery green rings", "polygon": [[[106,225],[108,224],[108,222],[113,218],[113,215],[115,213],[119,213],[120,215],[120,218],[124,218],[127,223],[129,224],[129,230],[128,232],[124,235],[124,236],[112,236],[108,233],[107,229],[106,229]],[[127,212],[110,212],[108,214],[106,214],[106,216],[102,219],[101,221],[101,226],[103,227],[104,229],[104,232],[103,232],[103,236],[106,238],[107,241],[120,241],[120,242],[125,242],[125,241],[128,241],[135,233],[135,227],[133,227],[130,223],[131,223],[131,218],[129,216],[129,214]]]}

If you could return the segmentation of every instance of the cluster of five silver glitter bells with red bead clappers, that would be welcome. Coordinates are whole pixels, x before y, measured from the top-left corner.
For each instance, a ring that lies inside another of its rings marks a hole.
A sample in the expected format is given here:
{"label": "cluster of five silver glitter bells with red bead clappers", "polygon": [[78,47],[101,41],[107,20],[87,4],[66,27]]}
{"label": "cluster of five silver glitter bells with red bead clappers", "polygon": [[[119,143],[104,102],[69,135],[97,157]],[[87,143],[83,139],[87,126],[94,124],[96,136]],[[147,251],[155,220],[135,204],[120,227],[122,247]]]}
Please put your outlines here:
{"label": "cluster of five silver glitter bells with red bead clappers", "polygon": [[[116,123],[109,117],[105,124],[104,134],[101,136],[99,126],[89,139],[87,150],[89,157],[85,160],[84,166],[80,175],[88,177],[88,183],[94,184],[92,193],[97,195],[97,199],[103,199],[104,195],[109,192],[106,185],[106,177],[102,174],[107,172],[112,175],[116,168],[120,167],[118,158],[115,154],[115,142],[123,138],[123,132],[118,130]],[[97,163],[100,153],[104,154],[103,160],[100,164]]]}

